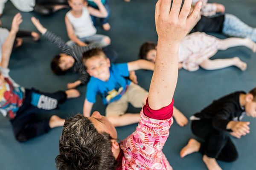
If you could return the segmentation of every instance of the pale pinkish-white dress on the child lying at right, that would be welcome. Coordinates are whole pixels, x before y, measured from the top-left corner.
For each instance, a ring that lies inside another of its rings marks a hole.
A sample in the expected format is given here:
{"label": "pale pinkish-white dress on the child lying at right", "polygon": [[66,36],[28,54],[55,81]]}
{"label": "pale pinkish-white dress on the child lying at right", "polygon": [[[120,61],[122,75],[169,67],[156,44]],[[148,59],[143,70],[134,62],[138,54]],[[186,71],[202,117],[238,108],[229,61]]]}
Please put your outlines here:
{"label": "pale pinkish-white dress on the child lying at right", "polygon": [[205,59],[214,56],[220,48],[220,40],[202,32],[187,35],[179,48],[179,62],[187,71],[196,71]]}

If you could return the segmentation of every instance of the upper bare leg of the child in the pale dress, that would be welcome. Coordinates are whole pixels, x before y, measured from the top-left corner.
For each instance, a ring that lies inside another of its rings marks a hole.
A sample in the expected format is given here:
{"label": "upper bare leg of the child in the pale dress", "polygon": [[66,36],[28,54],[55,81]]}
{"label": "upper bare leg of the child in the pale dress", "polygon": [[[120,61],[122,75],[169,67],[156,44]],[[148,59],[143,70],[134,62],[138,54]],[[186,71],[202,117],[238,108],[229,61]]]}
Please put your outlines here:
{"label": "upper bare leg of the child in the pale dress", "polygon": [[253,52],[256,52],[256,43],[249,38],[227,38],[221,40],[221,50],[226,50],[230,47],[245,46],[250,48]]}

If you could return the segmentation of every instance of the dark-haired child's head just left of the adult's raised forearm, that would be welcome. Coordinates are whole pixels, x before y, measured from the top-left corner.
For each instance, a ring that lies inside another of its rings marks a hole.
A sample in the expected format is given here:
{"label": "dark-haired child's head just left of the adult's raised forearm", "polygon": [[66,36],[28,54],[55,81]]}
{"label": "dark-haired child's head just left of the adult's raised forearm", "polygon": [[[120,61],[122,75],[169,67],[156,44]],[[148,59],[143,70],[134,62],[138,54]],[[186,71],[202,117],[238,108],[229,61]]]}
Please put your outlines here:
{"label": "dark-haired child's head just left of the adult's raised forearm", "polygon": [[140,46],[140,59],[146,59],[151,62],[156,61],[157,55],[157,45],[154,42],[145,42],[143,45]]}

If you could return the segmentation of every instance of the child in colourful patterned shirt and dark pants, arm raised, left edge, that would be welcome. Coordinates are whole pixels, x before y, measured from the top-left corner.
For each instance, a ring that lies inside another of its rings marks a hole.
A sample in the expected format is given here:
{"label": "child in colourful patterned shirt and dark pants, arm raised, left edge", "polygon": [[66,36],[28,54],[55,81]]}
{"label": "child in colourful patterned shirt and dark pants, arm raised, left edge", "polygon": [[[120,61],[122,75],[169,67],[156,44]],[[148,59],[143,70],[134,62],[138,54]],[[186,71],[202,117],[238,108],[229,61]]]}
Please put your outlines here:
{"label": "child in colourful patterned shirt and dark pants, arm raised, left edge", "polygon": [[2,60],[0,62],[0,112],[12,123],[15,138],[25,142],[35,136],[47,133],[54,127],[63,126],[65,120],[53,115],[50,119],[35,119],[35,114],[55,109],[69,98],[80,96],[77,90],[44,93],[38,90],[24,89],[9,76],[9,60],[13,43],[19,25],[22,22],[20,14],[12,21],[12,29],[3,44]]}

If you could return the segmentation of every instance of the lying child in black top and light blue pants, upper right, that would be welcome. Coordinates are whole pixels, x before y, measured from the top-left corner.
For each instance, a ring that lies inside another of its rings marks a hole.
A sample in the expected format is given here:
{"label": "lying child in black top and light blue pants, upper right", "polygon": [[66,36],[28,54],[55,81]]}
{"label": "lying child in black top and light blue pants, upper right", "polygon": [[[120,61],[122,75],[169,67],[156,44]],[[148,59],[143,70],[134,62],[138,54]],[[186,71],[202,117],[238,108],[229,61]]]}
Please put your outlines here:
{"label": "lying child in black top and light blue pants, upper right", "polygon": [[[198,1],[198,0],[195,0],[195,1]],[[256,28],[248,26],[247,24],[239,20],[239,18],[236,17],[235,15],[218,14],[210,17],[204,16],[204,15],[206,14],[202,12],[198,16],[198,22],[195,23],[195,27],[192,28],[191,32],[199,31],[199,32],[222,33],[229,37],[250,38],[251,40],[256,42]]]}

